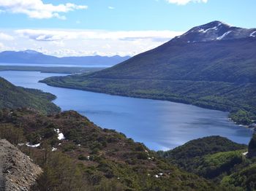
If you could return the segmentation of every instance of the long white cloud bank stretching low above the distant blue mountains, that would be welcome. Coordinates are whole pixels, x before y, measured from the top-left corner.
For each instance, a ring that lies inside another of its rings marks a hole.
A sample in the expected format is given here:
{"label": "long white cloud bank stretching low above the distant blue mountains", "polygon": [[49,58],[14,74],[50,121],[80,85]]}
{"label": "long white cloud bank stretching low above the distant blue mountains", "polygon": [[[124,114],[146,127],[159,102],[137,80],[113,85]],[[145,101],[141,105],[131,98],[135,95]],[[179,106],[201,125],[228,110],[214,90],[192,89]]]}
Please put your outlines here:
{"label": "long white cloud bank stretching low above the distant blue mountains", "polygon": [[99,30],[2,30],[0,33],[15,37],[5,41],[3,50],[37,50],[47,55],[137,55],[157,47],[177,31],[99,31]]}

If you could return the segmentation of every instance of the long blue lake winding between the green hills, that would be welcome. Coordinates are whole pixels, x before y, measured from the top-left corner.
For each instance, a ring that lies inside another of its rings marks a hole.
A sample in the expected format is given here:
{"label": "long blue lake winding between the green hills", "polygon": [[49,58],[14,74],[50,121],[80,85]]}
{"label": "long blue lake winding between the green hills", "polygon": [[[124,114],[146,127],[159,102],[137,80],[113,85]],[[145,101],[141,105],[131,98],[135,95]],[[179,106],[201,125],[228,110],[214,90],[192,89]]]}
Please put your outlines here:
{"label": "long blue lake winding between the green hills", "polygon": [[57,95],[54,103],[62,110],[76,110],[100,127],[122,132],[135,141],[143,142],[150,149],[172,149],[189,140],[212,135],[225,136],[238,143],[248,144],[252,136],[252,130],[230,122],[227,112],[169,101],[50,87],[38,83],[45,77],[59,75],[65,74],[0,71],[0,77],[15,85],[37,88]]}

